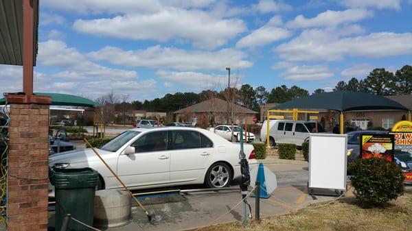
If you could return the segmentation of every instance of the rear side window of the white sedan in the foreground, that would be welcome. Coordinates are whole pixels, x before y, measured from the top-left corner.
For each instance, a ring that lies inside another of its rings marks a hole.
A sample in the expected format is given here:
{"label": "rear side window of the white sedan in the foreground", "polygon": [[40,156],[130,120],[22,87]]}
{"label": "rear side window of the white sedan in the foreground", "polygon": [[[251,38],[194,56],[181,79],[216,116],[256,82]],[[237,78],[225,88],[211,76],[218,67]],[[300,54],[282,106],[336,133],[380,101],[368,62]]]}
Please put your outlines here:
{"label": "rear side window of the white sedan in the foreground", "polygon": [[196,131],[174,130],[170,132],[169,149],[192,149],[201,147],[201,136]]}

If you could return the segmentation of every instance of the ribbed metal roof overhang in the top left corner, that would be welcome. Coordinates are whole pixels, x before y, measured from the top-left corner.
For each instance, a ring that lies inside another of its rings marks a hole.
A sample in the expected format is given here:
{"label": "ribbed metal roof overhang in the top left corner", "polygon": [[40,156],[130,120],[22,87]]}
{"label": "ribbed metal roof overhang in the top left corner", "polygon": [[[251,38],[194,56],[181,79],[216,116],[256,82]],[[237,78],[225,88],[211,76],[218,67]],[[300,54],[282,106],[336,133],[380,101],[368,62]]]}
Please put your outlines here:
{"label": "ribbed metal roof overhang in the top left corner", "polygon": [[[33,4],[33,64],[38,49],[38,0]],[[0,1],[0,64],[23,65],[23,0]]]}

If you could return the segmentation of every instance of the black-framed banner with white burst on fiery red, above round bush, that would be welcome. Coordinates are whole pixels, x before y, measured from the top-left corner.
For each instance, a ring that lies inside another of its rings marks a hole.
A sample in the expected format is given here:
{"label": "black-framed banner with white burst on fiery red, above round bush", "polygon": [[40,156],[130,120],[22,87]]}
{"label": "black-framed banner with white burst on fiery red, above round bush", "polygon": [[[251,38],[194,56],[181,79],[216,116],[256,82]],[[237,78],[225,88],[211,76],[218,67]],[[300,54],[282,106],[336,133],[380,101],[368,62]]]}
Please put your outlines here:
{"label": "black-framed banner with white burst on fiery red, above round bush", "polygon": [[393,161],[393,135],[362,134],[361,141],[362,158],[385,158]]}

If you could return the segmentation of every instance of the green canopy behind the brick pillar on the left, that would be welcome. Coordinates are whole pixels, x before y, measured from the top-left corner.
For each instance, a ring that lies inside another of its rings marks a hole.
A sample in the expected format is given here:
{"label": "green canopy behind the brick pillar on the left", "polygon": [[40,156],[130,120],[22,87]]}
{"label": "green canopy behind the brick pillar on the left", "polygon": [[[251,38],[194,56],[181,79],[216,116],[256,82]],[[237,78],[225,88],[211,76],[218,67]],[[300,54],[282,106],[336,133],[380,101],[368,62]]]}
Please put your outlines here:
{"label": "green canopy behind the brick pillar on the left", "polygon": [[[67,95],[60,93],[34,93],[34,95],[49,96],[52,97],[52,105],[55,106],[82,106],[82,107],[93,107],[97,106],[93,100],[86,99],[77,95]],[[0,105],[4,105],[6,98],[0,99]]]}

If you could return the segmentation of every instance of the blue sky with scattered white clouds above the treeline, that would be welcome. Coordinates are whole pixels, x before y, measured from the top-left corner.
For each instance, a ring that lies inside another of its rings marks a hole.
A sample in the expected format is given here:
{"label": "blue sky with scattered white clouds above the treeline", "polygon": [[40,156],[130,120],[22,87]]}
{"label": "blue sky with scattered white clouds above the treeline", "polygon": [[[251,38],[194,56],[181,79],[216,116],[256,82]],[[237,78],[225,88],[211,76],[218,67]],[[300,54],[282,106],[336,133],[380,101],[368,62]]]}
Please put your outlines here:
{"label": "blue sky with scattered white clouds above the treeline", "polygon": [[[129,100],[286,84],[312,92],[412,64],[412,0],[43,0],[34,90]],[[0,65],[0,93],[21,67]]]}

